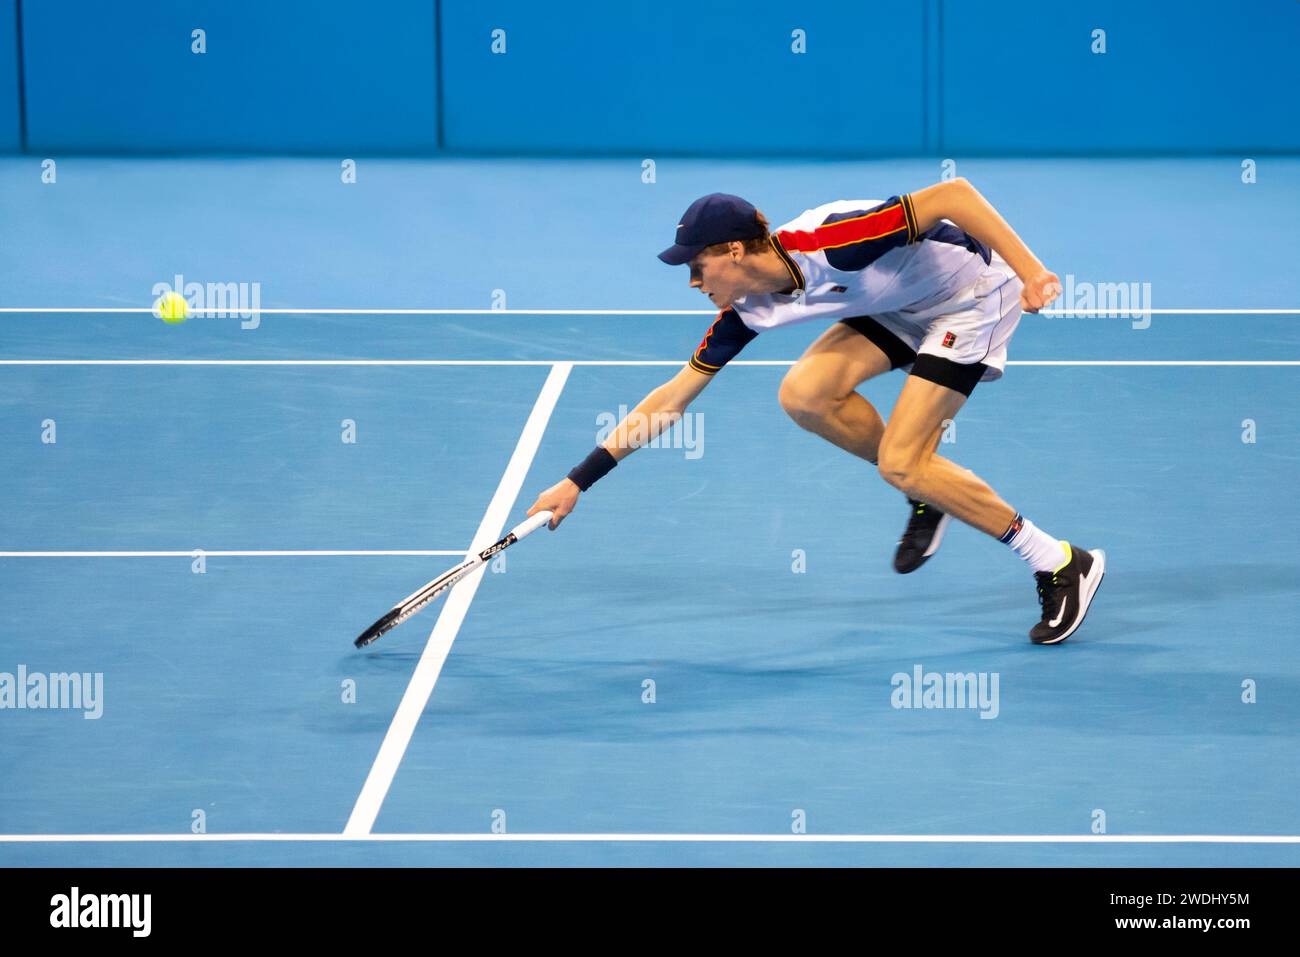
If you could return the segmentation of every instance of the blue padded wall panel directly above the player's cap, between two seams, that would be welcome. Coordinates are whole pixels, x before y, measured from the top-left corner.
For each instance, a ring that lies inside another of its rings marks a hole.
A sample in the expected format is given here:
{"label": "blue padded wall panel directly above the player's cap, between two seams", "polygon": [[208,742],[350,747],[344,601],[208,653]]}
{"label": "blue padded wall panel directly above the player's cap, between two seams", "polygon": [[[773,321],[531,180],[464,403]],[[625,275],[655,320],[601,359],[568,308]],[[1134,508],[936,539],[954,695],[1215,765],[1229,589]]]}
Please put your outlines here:
{"label": "blue padded wall panel directly above the player's cap, between two seams", "polygon": [[[926,3],[443,0],[445,144],[486,152],[922,148]],[[493,31],[504,30],[504,53]],[[806,52],[792,51],[803,30]]]}

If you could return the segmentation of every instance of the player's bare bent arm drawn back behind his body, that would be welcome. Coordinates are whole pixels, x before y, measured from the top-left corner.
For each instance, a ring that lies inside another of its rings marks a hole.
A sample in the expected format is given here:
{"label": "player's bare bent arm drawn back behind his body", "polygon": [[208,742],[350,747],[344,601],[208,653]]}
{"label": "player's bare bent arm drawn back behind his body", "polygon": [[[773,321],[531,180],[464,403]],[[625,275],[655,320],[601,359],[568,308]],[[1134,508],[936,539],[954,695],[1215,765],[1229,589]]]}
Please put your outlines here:
{"label": "player's bare bent arm drawn back behind his body", "polygon": [[957,177],[911,194],[916,231],[924,233],[948,220],[982,243],[991,246],[1024,283],[1020,307],[1037,312],[1061,293],[1061,280],[1035,256],[993,205],[968,179]]}

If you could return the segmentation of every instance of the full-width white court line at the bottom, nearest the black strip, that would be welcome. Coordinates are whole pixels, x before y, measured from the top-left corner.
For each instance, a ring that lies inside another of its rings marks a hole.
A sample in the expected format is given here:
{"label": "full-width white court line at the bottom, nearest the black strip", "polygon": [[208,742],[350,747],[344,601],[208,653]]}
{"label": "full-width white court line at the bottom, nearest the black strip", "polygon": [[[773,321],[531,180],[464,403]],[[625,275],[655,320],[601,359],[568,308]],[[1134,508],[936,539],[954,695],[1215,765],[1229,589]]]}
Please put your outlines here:
{"label": "full-width white court line at the bottom, nearest the black strip", "polygon": [[183,843],[447,844],[1300,844],[1300,835],[1240,833],[4,833],[0,844]]}

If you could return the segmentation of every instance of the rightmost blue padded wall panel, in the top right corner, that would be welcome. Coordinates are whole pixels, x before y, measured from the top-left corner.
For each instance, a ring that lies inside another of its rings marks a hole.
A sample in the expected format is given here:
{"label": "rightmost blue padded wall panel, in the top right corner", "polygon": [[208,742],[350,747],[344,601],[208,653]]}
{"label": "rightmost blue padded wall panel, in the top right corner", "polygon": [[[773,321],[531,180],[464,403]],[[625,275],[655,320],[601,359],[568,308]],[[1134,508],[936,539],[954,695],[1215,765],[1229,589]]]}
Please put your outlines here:
{"label": "rightmost blue padded wall panel, in the top right corner", "polygon": [[941,22],[945,152],[1300,148],[1296,0],[942,0]]}

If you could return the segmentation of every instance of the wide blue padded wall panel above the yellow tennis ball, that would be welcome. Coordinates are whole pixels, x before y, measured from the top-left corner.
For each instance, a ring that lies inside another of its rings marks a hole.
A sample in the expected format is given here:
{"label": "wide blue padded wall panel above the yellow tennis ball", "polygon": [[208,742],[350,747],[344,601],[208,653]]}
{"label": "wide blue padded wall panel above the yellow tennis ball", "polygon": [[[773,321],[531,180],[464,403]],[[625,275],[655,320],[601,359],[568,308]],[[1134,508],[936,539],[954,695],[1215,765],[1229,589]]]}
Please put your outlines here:
{"label": "wide blue padded wall panel above the yellow tennis ball", "polygon": [[429,151],[434,48],[432,0],[25,0],[29,148]]}

